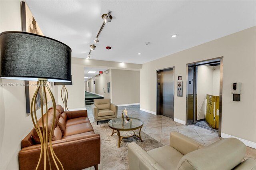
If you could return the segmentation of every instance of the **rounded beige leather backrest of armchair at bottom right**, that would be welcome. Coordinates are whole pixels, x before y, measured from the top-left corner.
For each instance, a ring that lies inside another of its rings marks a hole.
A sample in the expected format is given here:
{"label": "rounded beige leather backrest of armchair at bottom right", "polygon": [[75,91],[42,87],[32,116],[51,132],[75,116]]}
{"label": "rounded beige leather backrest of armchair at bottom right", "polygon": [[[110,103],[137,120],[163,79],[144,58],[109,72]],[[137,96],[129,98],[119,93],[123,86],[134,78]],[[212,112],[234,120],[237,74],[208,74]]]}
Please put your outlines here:
{"label": "rounded beige leather backrest of armchair at bottom right", "polygon": [[226,138],[183,156],[178,170],[224,170],[240,164],[245,145],[236,138]]}

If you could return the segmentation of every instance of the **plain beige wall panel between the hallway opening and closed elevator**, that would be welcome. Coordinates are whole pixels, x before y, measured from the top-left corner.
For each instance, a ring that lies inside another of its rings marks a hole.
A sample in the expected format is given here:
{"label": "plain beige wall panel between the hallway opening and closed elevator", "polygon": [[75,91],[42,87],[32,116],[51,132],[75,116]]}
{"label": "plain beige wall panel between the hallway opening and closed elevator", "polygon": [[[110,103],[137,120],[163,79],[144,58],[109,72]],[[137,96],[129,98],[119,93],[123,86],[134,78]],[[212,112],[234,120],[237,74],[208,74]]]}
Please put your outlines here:
{"label": "plain beige wall panel between the hallway opening and closed elevator", "polygon": [[112,103],[140,103],[140,71],[112,69]]}

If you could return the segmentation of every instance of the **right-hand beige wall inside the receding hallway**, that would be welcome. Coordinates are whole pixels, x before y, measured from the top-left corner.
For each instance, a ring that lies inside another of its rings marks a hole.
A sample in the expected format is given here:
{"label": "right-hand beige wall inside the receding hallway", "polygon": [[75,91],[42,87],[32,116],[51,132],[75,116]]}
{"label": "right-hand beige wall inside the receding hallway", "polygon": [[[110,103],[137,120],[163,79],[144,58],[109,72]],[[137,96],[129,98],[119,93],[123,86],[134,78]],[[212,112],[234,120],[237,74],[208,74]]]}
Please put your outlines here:
{"label": "right-hand beige wall inside the receding hallway", "polygon": [[[103,72],[103,74],[100,75],[96,75],[95,76],[95,93],[99,94],[99,95],[103,95],[104,99],[111,99],[111,93],[112,93],[112,89],[111,89],[111,69],[107,70],[108,73],[106,73],[106,71]],[[108,82],[110,82],[110,93],[108,93]],[[104,93],[103,89],[105,90],[106,93]]]}

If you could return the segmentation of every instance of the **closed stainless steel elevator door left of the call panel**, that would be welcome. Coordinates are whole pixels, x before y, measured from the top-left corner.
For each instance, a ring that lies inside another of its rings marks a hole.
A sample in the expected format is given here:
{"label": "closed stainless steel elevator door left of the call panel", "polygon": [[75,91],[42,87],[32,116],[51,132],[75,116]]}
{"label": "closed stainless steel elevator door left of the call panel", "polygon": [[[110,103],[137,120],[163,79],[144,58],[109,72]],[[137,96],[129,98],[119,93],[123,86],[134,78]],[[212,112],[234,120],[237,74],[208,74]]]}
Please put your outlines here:
{"label": "closed stainless steel elevator door left of the call panel", "polygon": [[161,115],[174,118],[174,77],[173,69],[161,71],[160,104]]}

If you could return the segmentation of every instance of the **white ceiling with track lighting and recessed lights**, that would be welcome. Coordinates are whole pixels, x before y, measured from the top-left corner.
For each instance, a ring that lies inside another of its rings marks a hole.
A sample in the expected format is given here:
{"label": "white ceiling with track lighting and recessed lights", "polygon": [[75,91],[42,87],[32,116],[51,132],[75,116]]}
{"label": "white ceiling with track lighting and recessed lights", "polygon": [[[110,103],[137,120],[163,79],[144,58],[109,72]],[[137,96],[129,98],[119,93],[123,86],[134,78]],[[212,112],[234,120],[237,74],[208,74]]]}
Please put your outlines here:
{"label": "white ceiling with track lighting and recessed lights", "polygon": [[90,55],[107,61],[142,64],[256,25],[256,1],[26,2],[44,35],[66,43],[72,57],[80,58],[94,43],[101,15],[111,10],[113,19]]}

